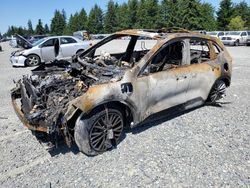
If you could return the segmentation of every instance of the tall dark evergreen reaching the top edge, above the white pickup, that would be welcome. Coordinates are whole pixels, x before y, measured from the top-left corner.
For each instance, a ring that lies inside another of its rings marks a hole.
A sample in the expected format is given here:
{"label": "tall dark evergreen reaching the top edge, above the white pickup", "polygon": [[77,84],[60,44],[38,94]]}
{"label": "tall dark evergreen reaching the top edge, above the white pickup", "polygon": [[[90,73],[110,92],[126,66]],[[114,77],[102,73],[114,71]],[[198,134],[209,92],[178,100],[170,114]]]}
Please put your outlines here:
{"label": "tall dark evergreen reaching the top edge, above the white pickup", "polygon": [[233,5],[231,0],[222,0],[217,12],[217,24],[219,30],[226,30],[233,14]]}

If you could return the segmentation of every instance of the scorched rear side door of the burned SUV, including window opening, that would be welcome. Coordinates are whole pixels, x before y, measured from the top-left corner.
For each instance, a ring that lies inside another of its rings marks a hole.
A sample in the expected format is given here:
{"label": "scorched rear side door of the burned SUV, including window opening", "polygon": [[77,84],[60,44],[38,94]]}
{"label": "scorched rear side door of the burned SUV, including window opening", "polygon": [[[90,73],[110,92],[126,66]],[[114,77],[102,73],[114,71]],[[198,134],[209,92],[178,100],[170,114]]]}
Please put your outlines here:
{"label": "scorched rear side door of the burned SUV, including window opening", "polygon": [[[196,101],[201,104],[207,99],[217,79],[215,71],[219,69],[219,63],[216,63],[216,60],[220,54],[215,53],[215,46],[213,46],[215,44],[206,39],[190,39],[189,44],[191,80],[186,97],[187,101]],[[194,53],[198,56],[194,56]]]}

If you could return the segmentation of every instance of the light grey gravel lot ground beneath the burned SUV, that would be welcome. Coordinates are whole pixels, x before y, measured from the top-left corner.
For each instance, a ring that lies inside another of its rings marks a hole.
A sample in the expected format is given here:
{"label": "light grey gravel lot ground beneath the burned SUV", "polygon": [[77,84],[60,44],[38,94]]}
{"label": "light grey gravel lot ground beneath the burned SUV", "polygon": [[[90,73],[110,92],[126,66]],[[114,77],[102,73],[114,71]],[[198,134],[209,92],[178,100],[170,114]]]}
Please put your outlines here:
{"label": "light grey gravel lot ground beneath the burned SUV", "polygon": [[0,187],[250,187],[250,47],[228,47],[232,85],[222,107],[204,106],[128,130],[117,149],[87,157],[46,151],[15,115],[12,68],[0,52]]}

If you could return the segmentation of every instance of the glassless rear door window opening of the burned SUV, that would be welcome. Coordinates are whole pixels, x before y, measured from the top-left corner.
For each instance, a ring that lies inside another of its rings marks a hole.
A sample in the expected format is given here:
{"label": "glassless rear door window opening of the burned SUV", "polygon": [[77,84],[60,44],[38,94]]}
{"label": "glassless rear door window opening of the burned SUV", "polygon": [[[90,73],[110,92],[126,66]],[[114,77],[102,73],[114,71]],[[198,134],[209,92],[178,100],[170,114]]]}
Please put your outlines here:
{"label": "glassless rear door window opening of the burned SUV", "polygon": [[210,60],[208,41],[190,39],[190,64],[202,63]]}

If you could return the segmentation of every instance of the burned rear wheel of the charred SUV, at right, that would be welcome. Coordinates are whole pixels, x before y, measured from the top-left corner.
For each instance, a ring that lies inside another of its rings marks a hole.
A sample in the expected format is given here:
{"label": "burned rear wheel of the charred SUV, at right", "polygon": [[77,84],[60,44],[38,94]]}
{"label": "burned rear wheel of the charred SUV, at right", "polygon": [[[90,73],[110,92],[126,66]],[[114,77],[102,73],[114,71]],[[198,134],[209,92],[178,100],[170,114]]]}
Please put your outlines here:
{"label": "burned rear wheel of the charred SUV, at right", "polygon": [[222,99],[225,96],[226,88],[226,83],[223,80],[216,81],[208,95],[207,102],[216,103]]}

